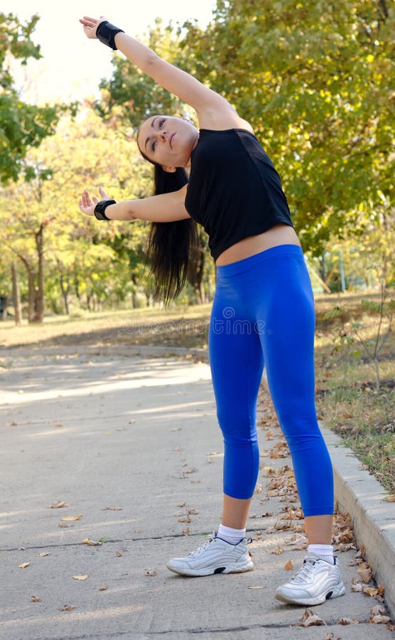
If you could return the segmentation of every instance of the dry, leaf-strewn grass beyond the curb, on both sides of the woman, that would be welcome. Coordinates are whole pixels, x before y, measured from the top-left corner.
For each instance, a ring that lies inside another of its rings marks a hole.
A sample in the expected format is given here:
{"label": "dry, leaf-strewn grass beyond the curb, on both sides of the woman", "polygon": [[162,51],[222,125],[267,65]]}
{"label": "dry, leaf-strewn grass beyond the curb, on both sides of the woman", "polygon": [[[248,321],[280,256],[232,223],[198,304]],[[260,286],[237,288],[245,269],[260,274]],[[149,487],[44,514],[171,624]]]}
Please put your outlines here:
{"label": "dry, leaf-strewn grass beyond the curb, on both sides of the woman", "polygon": [[[318,295],[315,299],[317,331],[315,375],[318,414],[339,434],[379,482],[395,493],[395,338],[389,334],[380,354],[382,386],[376,389],[374,365],[364,353],[353,356],[355,343],[334,351],[339,331],[358,320],[364,335],[374,336],[377,317],[367,316],[361,299],[379,301],[379,295]],[[335,305],[345,308],[342,318],[324,319]],[[149,345],[207,348],[211,305],[170,309],[104,311],[79,318],[53,316],[42,325],[16,327],[0,322],[4,348],[89,345]],[[334,342],[335,341],[335,342]],[[1,356],[0,348],[0,366]]]}

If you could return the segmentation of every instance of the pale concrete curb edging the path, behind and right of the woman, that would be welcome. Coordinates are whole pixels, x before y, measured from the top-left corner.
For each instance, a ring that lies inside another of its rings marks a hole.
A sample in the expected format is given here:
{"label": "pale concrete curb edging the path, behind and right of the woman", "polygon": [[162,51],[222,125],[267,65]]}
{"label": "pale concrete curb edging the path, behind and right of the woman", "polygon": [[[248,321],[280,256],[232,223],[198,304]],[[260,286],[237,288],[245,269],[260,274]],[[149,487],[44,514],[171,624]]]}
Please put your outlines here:
{"label": "pale concrete curb edging the path, behind and right of the woman", "polygon": [[[33,348],[0,350],[3,358],[26,357],[33,353]],[[124,357],[194,356],[208,362],[207,349],[170,346],[52,346],[40,348],[40,353],[48,356],[74,353]],[[267,388],[265,375],[262,383]],[[357,543],[359,547],[364,545],[375,580],[384,586],[386,604],[391,616],[395,617],[395,503],[384,499],[384,487],[369,474],[352,450],[342,444],[340,437],[322,424],[320,428],[332,459],[335,499],[340,511],[350,513]]]}

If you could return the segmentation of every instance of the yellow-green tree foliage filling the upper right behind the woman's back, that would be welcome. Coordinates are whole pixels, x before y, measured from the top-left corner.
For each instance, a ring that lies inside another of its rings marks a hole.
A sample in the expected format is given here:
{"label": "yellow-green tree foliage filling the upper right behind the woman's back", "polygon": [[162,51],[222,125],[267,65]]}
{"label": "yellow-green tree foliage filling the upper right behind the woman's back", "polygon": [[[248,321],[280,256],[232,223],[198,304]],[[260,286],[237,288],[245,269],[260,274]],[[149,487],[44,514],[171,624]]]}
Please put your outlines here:
{"label": "yellow-green tree foliage filling the upper right behind the woman's back", "polygon": [[219,0],[205,31],[188,25],[188,69],[251,122],[315,255],[356,208],[362,233],[391,201],[393,31],[394,7],[373,0]]}

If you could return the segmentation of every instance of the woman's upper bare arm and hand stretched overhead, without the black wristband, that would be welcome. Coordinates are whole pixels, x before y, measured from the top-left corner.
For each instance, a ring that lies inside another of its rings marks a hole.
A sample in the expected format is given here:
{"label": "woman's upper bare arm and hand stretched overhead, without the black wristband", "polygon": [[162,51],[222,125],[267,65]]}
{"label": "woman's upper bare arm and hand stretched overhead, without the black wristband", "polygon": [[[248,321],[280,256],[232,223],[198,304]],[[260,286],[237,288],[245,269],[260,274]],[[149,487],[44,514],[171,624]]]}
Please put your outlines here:
{"label": "woman's upper bare arm and hand stretched overhead, without the black wristband", "polygon": [[[80,23],[84,26],[88,38],[97,38],[97,27],[103,21],[105,21],[103,17],[97,20],[84,16]],[[229,112],[229,115],[237,113],[222,96],[202,85],[199,80],[193,78],[186,71],[159,58],[152,49],[136,38],[131,38],[120,31],[116,33],[114,42],[115,46],[126,55],[131,63],[134,63],[146,75],[158,82],[158,85],[178,96],[183,102],[187,102],[198,114],[210,113],[214,110]]]}

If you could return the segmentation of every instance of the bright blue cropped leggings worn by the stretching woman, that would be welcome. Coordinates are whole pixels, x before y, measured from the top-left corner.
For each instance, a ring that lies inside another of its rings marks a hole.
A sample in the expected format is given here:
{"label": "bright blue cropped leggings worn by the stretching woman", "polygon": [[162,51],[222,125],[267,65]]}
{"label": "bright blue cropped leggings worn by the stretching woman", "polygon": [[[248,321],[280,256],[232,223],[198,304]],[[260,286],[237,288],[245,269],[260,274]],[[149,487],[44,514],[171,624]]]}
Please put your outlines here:
{"label": "bright blue cropped leggings worn by the stretching woman", "polygon": [[256,399],[264,366],[304,516],[332,514],[332,463],[314,401],[315,313],[296,245],[217,267],[210,367],[224,436],[224,494],[251,498],[259,471]]}

